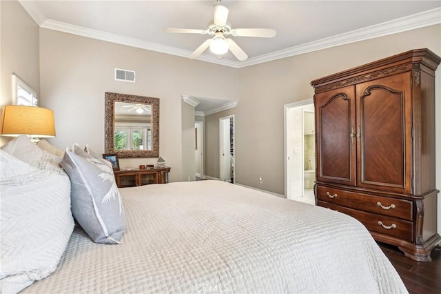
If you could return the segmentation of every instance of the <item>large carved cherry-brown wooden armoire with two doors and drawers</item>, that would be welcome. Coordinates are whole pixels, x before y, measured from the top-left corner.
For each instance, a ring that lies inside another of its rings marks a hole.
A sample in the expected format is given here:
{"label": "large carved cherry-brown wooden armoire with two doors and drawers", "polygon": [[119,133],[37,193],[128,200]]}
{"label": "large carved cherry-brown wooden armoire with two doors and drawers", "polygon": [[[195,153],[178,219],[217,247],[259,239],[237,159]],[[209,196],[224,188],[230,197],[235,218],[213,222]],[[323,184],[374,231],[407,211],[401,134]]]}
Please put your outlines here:
{"label": "large carved cherry-brown wooden armoire with two doors and drawers", "polygon": [[374,239],[418,261],[429,261],[441,241],[435,189],[440,61],[428,49],[411,50],[311,81],[316,203],[355,217]]}

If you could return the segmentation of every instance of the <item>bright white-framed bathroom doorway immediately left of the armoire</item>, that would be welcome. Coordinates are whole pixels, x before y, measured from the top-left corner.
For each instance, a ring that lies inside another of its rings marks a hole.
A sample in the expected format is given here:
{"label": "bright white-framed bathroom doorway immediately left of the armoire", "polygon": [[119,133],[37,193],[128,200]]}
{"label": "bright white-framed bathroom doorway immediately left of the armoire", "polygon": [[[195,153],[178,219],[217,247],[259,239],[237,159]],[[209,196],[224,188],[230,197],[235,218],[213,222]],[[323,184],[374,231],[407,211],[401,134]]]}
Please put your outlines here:
{"label": "bright white-framed bathroom doorway immediately left of the armoire", "polygon": [[284,106],[285,195],[287,199],[315,204],[315,123],[312,99]]}

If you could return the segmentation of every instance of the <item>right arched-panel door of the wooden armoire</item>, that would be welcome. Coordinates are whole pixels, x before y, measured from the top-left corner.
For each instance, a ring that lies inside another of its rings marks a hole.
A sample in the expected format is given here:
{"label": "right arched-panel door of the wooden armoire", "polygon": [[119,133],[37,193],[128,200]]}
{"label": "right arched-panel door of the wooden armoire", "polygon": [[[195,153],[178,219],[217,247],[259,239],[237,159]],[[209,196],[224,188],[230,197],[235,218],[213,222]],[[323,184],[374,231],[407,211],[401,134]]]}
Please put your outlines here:
{"label": "right arched-panel door of the wooden armoire", "polygon": [[[411,113],[409,72],[356,86],[358,142],[357,186],[406,192],[410,182],[410,146],[406,124]],[[384,86],[387,85],[387,86]],[[409,121],[410,123],[410,121]],[[408,191],[410,192],[410,190]]]}

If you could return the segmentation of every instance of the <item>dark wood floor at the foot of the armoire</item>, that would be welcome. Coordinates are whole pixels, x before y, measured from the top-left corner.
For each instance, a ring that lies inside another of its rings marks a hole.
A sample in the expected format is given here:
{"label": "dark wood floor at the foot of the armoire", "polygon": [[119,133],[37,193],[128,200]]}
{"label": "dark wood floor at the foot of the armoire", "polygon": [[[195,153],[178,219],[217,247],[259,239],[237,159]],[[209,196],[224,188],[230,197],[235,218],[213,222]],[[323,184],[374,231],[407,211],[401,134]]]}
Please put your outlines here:
{"label": "dark wood floor at the foot of the armoire", "polygon": [[416,262],[395,246],[378,243],[400,275],[409,293],[441,293],[441,248],[433,249],[431,262]]}

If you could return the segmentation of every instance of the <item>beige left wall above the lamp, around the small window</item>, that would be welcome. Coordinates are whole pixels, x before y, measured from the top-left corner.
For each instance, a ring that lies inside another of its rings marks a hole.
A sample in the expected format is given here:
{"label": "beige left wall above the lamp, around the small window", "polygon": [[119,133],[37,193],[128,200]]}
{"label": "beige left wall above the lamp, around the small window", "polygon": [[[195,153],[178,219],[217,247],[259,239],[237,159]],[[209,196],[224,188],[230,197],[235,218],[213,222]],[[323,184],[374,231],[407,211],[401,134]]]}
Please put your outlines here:
{"label": "beige left wall above the lamp, around the small window", "polygon": [[[12,73],[40,96],[39,26],[17,1],[0,1],[0,106],[14,104]],[[0,145],[8,138],[0,136]]]}

